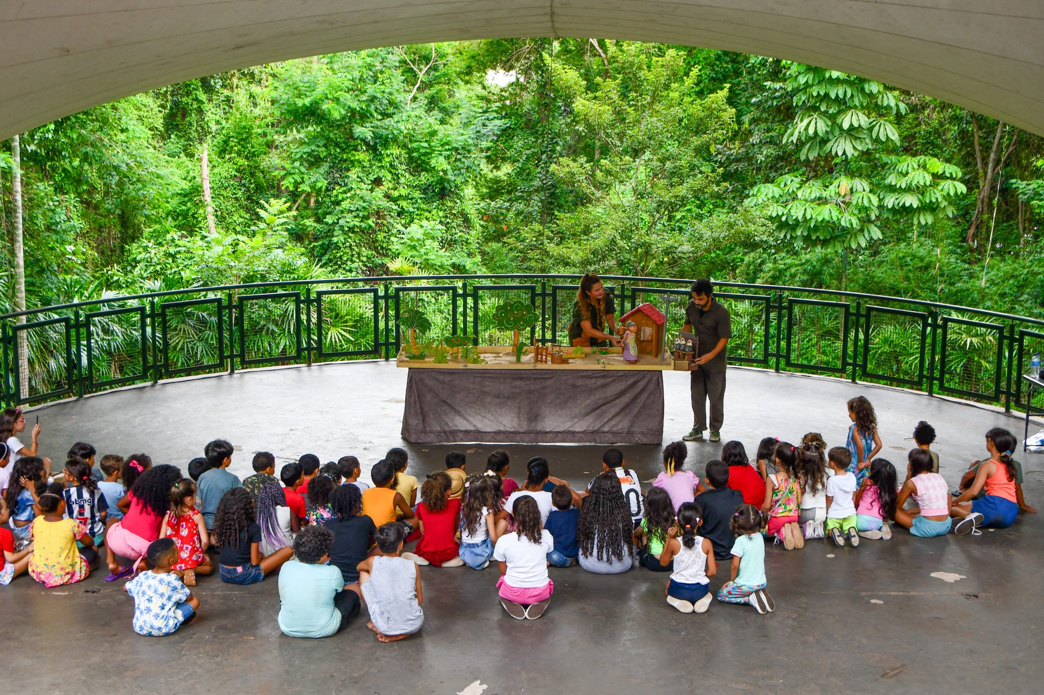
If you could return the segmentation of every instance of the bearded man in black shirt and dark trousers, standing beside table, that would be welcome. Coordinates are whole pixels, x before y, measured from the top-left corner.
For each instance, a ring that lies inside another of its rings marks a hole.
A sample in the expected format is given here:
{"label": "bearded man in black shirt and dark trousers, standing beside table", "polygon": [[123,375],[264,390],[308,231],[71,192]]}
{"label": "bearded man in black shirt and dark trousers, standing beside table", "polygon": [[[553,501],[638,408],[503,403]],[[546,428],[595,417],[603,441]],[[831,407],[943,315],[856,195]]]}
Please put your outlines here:
{"label": "bearded man in black shirt and dark trousers, standing beside table", "polygon": [[732,338],[732,319],[729,309],[714,299],[714,286],[708,279],[692,283],[692,301],[685,307],[685,326],[682,330],[698,339],[695,362],[699,369],[690,372],[689,389],[692,393],[692,429],[683,437],[686,442],[704,439],[707,429],[707,403],[711,403],[711,441],[721,441],[725,422],[725,370],[726,345]]}

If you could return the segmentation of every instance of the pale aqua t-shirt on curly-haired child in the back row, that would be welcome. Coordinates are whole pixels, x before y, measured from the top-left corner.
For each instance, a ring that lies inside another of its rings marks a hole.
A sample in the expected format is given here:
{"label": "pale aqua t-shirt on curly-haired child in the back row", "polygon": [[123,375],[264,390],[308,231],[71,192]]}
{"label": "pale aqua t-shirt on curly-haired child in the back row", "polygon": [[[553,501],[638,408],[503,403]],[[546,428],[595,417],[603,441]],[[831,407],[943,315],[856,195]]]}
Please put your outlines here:
{"label": "pale aqua t-shirt on curly-haired child in the back row", "polygon": [[333,597],[343,588],[332,565],[286,563],[279,571],[279,628],[290,637],[330,637],[340,627]]}

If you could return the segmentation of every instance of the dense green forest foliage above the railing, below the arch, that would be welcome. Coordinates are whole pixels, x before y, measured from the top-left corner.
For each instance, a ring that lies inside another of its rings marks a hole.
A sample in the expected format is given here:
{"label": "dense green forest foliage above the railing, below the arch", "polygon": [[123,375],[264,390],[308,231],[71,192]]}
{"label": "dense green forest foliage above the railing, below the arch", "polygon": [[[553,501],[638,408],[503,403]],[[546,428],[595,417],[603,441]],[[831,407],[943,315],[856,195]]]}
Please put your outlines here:
{"label": "dense green forest foliage above the railing, below the arch", "polygon": [[1028,316],[1044,298],[1041,139],[756,56],[595,40],[375,49],[137,95],[21,142],[30,307],[267,279],[588,269]]}

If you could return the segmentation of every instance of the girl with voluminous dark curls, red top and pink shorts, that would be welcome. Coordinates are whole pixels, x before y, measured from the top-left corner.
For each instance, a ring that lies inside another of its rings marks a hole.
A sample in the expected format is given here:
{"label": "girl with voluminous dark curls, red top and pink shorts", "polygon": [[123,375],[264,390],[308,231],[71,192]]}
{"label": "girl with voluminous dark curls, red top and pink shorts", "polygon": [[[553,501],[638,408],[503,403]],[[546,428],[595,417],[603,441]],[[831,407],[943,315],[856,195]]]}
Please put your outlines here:
{"label": "girl with voluminous dark curls, red top and pink shorts", "polygon": [[[146,468],[135,480],[127,496],[120,500],[123,518],[109,527],[105,535],[105,556],[109,576],[105,581],[129,576],[148,552],[148,545],[160,538],[163,518],[170,510],[170,489],[182,479],[173,466]],[[117,556],[130,562],[120,565]]]}

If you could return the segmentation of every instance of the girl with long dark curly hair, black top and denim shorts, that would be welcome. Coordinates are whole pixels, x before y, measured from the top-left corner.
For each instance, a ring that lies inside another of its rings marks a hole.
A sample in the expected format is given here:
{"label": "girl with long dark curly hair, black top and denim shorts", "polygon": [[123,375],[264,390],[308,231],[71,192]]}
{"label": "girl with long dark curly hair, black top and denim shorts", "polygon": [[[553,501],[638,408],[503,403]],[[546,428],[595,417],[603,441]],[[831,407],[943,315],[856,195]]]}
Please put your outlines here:
{"label": "girl with long dark curly hair, black top and denim shorts", "polygon": [[255,514],[254,499],[242,488],[232,488],[217,504],[213,539],[221,548],[217,571],[226,584],[257,584],[293,555],[293,548],[261,554],[261,527]]}

